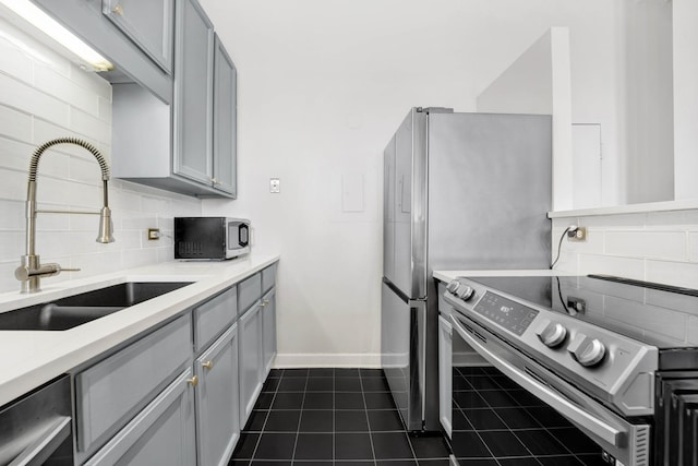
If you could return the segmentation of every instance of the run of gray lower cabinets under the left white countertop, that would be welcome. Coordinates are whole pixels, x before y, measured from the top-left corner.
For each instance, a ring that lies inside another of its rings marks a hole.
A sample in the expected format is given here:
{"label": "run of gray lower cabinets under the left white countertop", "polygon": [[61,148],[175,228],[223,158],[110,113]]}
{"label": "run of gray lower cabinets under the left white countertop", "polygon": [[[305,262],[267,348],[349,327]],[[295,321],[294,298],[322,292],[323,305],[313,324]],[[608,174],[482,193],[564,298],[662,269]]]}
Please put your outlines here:
{"label": "run of gray lower cabinets under the left white countertop", "polygon": [[262,275],[75,369],[76,465],[228,463],[276,355]]}

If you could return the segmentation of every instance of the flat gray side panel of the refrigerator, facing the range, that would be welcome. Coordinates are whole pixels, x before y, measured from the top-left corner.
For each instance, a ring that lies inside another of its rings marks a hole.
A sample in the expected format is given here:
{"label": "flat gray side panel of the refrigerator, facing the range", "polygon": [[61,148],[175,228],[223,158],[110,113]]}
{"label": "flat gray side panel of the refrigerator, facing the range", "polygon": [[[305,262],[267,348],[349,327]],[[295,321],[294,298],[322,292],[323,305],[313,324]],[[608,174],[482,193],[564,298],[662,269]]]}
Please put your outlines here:
{"label": "flat gray side panel of the refrigerator, facing the range", "polygon": [[551,118],[430,115],[431,270],[547,268]]}

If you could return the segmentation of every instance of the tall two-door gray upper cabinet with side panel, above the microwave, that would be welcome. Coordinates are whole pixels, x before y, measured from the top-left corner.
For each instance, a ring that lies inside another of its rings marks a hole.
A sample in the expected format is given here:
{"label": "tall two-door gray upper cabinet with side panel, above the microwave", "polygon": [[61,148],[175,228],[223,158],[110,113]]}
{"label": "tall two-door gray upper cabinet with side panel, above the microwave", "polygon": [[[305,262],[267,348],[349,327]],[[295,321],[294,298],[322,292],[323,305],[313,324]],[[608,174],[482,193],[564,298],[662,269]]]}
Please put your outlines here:
{"label": "tall two-door gray upper cabinet with side panel, above the microwave", "polygon": [[171,107],[137,85],[113,85],[113,176],[234,199],[236,68],[196,0],[178,1],[174,16]]}

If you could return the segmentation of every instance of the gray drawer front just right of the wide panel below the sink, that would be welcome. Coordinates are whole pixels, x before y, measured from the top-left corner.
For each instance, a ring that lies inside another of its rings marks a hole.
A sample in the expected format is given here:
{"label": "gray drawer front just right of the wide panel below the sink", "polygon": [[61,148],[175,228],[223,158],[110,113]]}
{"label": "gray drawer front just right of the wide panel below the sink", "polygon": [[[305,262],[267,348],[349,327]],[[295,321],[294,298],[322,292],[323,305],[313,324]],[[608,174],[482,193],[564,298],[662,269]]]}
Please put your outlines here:
{"label": "gray drawer front just right of the wide panel below the sink", "polygon": [[238,290],[233,286],[194,308],[194,345],[202,350],[238,318]]}

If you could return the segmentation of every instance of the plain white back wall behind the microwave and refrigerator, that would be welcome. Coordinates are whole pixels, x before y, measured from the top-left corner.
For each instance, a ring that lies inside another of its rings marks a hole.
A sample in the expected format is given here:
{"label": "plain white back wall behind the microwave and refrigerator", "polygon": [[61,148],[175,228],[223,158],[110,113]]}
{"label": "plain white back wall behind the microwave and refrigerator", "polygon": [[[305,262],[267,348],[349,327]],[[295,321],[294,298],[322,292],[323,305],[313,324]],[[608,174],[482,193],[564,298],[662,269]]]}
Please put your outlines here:
{"label": "plain white back wall behind the microwave and refrigerator", "polygon": [[[473,111],[551,26],[570,28],[573,85],[603,87],[615,63],[607,0],[202,4],[239,70],[240,154],[239,199],[203,208],[250,216],[254,247],[281,254],[280,365],[378,363],[381,158],[411,106]],[[363,212],[341,211],[342,176],[363,178]]]}

